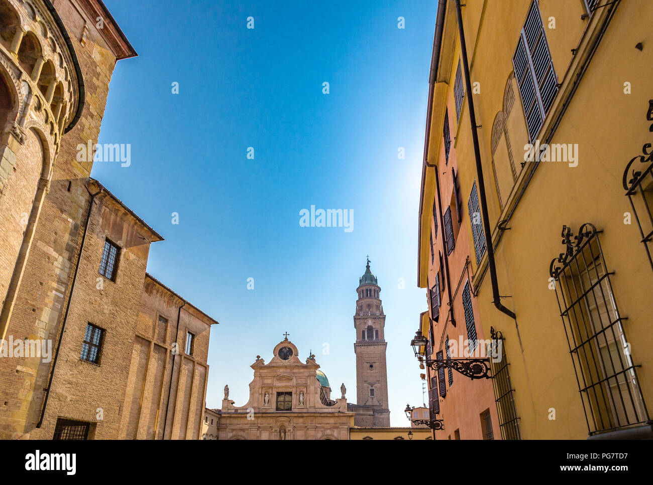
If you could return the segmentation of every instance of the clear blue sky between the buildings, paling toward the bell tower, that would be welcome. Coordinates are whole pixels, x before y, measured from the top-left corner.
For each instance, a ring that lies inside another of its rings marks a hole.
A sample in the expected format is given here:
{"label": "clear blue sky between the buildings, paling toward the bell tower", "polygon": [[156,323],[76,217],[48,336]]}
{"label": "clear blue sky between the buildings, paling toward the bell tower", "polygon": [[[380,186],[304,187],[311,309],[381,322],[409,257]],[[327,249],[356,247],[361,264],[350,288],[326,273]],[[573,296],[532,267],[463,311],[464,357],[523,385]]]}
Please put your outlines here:
{"label": "clear blue sky between the buildings, paling toward the bell tower", "polygon": [[[220,322],[207,405],[226,383],[246,404],[249,366],[286,331],[354,402],[369,254],[390,419],[406,426],[406,403],[422,403],[409,342],[426,310],[417,213],[436,0],[105,3],[138,57],[116,65],[99,141],[131,143],[131,165],[96,162],[92,175],[165,238],[148,271]],[[353,231],[300,227],[311,205],[353,210]]]}

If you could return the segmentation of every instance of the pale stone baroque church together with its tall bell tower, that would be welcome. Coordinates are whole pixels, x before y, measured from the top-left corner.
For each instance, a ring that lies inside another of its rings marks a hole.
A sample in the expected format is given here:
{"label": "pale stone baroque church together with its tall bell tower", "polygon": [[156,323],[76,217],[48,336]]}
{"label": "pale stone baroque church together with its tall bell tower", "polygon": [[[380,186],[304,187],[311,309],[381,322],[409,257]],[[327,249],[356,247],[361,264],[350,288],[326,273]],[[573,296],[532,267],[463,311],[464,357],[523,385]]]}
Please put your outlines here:
{"label": "pale stone baroque church together with its tall bell tower", "polygon": [[334,398],[315,355],[302,362],[285,334],[270,362],[257,356],[251,365],[254,378],[246,404],[236,406],[225,386],[217,439],[351,439],[352,429],[368,430],[364,439],[373,439],[368,436],[372,429],[389,430],[387,342],[380,291],[368,259],[358,281],[354,316],[357,404],[347,403],[344,383],[340,398]]}

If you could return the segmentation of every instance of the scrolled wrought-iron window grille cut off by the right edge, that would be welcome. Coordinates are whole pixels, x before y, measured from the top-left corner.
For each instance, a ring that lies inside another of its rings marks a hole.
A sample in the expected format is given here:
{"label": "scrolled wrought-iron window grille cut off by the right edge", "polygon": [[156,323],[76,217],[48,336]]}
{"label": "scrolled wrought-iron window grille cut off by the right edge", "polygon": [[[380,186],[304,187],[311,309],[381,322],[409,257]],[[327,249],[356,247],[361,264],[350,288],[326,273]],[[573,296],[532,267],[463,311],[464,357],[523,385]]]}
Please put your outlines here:
{"label": "scrolled wrought-iron window grille cut off by the right edge", "polygon": [[[653,121],[653,100],[649,101],[646,119]],[[653,131],[653,125],[650,130]],[[622,182],[635,214],[640,242],[644,244],[648,263],[653,269],[653,149],[649,146],[647,152],[646,145],[643,154],[635,156],[626,165]]]}

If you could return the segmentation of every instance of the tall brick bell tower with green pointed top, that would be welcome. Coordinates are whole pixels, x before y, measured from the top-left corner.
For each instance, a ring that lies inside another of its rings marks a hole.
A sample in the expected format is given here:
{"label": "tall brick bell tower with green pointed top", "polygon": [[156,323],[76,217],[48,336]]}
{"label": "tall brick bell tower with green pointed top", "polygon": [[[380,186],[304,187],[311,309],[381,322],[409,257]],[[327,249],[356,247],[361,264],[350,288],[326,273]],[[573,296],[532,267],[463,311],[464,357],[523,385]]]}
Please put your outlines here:
{"label": "tall brick bell tower with green pointed top", "polygon": [[385,314],[379,298],[381,287],[370,271],[370,257],[365,273],[358,280],[358,299],[354,328],[356,341],[355,426],[384,428],[390,426],[388,377],[385,364]]}

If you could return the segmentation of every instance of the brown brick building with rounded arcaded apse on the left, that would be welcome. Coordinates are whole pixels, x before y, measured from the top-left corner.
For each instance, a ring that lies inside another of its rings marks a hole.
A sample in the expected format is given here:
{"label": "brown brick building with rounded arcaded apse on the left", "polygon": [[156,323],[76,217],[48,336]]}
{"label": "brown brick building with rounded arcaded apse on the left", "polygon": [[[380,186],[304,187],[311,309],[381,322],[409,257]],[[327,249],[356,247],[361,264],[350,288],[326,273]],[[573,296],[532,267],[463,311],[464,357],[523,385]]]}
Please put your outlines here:
{"label": "brown brick building with rounded arcaded apse on the left", "polygon": [[102,1],[0,0],[0,438],[199,439],[217,322],[80,156],[135,55]]}

